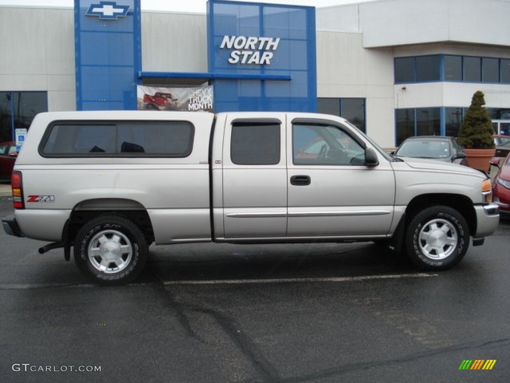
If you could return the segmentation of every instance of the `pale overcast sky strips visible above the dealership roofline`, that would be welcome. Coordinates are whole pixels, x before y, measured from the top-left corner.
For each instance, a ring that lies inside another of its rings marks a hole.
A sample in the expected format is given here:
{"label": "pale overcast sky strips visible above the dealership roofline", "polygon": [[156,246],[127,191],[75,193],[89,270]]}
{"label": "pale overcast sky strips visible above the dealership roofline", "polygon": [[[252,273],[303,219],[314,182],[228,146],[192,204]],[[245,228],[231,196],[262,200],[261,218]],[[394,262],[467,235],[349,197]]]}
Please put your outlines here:
{"label": "pale overcast sky strips visible above the dealership roofline", "polygon": [[[119,4],[122,0],[116,0]],[[276,3],[291,5],[308,5],[314,7],[329,7],[339,4],[365,3],[374,0],[243,0],[251,3]],[[177,12],[206,13],[207,0],[141,0],[143,10],[161,10]],[[99,0],[97,0],[99,3]],[[39,7],[73,7],[74,0],[0,0],[0,5],[29,5]]]}

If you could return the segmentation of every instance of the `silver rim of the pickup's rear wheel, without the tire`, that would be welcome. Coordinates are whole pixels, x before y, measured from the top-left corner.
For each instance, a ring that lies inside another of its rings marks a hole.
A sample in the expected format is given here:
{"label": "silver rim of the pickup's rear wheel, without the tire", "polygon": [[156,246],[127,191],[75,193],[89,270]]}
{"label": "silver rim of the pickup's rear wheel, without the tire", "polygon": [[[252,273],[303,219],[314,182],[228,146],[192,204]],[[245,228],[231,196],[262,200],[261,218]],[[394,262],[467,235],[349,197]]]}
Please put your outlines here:
{"label": "silver rim of the pickup's rear wheel, without the tire", "polygon": [[88,246],[90,264],[106,274],[118,273],[130,264],[133,245],[116,230],[103,230],[92,237]]}

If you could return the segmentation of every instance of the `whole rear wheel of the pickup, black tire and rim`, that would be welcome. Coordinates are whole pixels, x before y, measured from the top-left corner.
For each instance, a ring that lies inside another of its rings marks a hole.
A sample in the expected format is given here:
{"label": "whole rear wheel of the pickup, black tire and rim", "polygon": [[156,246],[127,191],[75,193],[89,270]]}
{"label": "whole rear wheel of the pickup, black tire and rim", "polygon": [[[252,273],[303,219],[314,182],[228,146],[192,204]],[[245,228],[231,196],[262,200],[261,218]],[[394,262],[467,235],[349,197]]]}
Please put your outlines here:
{"label": "whole rear wheel of the pickup, black tire and rim", "polygon": [[147,254],[142,231],[133,222],[113,214],[87,222],[74,239],[78,268],[102,285],[133,281],[145,267]]}

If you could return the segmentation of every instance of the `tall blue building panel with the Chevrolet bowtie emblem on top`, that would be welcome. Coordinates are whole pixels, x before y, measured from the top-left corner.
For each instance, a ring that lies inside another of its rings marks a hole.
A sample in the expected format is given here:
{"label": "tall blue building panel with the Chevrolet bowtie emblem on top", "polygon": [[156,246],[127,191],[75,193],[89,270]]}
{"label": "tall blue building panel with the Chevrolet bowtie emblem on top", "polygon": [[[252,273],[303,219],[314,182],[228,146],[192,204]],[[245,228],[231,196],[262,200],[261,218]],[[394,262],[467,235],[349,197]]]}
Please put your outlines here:
{"label": "tall blue building panel with the Chevrolet bowtie emblem on top", "polygon": [[77,110],[136,109],[140,0],[74,0],[74,23]]}

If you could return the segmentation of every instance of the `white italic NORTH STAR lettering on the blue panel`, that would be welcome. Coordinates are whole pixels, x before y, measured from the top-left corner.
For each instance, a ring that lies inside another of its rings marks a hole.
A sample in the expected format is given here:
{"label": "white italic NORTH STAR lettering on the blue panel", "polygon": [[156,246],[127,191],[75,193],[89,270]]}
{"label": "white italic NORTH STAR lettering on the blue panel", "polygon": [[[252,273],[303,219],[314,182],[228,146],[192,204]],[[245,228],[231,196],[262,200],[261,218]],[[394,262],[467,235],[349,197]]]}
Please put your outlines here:
{"label": "white italic NORTH STAR lettering on the blue panel", "polygon": [[231,64],[270,65],[279,42],[279,37],[224,36],[220,49],[234,49],[228,59]]}

